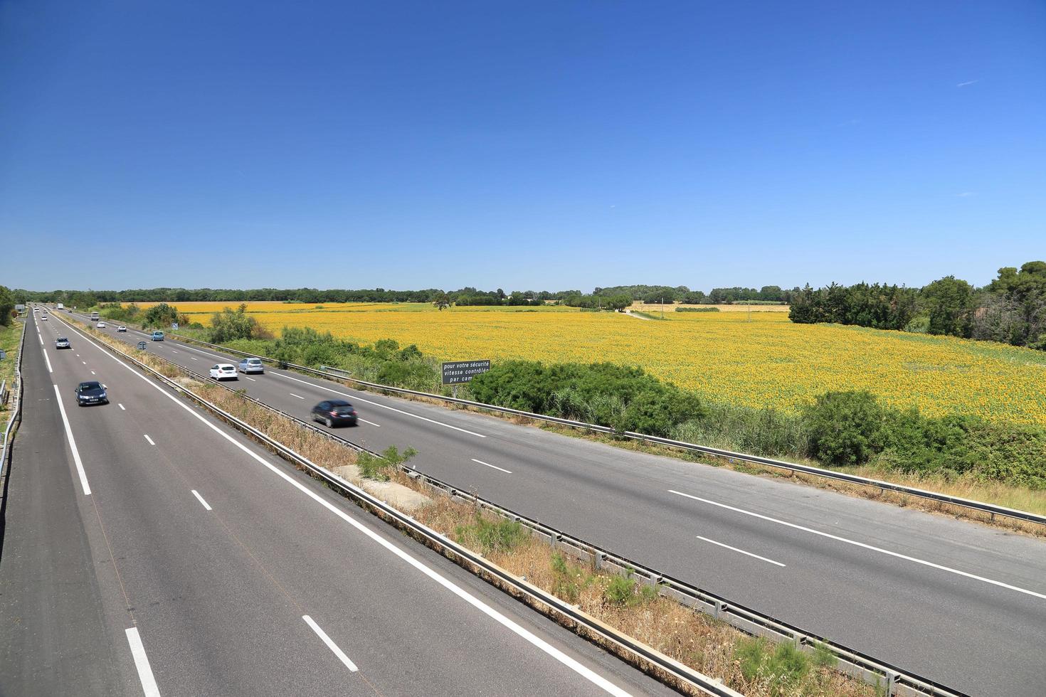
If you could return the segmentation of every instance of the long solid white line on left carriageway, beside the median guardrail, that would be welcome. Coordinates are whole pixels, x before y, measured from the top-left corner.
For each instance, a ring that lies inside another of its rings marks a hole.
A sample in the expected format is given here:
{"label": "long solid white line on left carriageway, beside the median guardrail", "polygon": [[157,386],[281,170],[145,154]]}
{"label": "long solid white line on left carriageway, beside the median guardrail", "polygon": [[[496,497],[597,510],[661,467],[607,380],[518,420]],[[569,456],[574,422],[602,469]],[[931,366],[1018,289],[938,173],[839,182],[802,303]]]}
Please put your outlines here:
{"label": "long solid white line on left carriageway, beside the median guardrail", "polygon": [[473,596],[472,594],[470,594],[468,590],[465,590],[461,586],[457,585],[456,583],[454,583],[450,579],[448,579],[448,578],[444,577],[442,575],[440,575],[439,573],[435,572],[434,570],[432,570],[431,567],[429,567],[425,562],[423,562],[423,561],[414,558],[414,556],[411,555],[406,550],[401,549],[396,544],[390,542],[389,540],[385,539],[384,537],[382,537],[378,533],[376,533],[373,530],[370,530],[369,528],[367,528],[366,526],[364,526],[359,520],[354,519],[348,513],[346,513],[345,511],[341,510],[340,508],[338,508],[337,506],[335,506],[331,502],[326,501],[325,498],[323,498],[318,493],[316,493],[315,491],[313,491],[312,489],[310,489],[309,487],[306,487],[301,482],[298,482],[295,479],[293,479],[290,474],[288,474],[287,472],[285,472],[283,470],[281,470],[279,467],[277,467],[276,465],[274,465],[271,462],[267,461],[265,458],[263,458],[262,456],[259,456],[257,452],[254,452],[249,447],[247,447],[246,445],[244,445],[243,443],[241,443],[240,441],[237,441],[235,438],[233,438],[229,434],[227,434],[224,431],[222,431],[217,424],[213,424],[210,421],[208,421],[206,419],[206,417],[204,417],[202,414],[197,413],[191,406],[189,406],[188,404],[186,404],[183,401],[181,401],[181,399],[179,399],[177,396],[170,394],[169,392],[167,392],[166,390],[164,390],[162,387],[160,387],[159,385],[157,385],[156,382],[154,382],[150,378],[145,377],[144,375],[142,375],[141,373],[139,373],[137,370],[135,370],[134,368],[132,368],[128,364],[126,364],[122,361],[120,361],[119,358],[117,358],[115,355],[113,355],[109,351],[105,350],[104,348],[101,348],[100,346],[98,346],[97,344],[95,344],[92,340],[90,340],[86,334],[84,334],[79,330],[75,329],[71,325],[69,325],[69,328],[72,329],[73,331],[75,331],[76,333],[78,333],[81,336],[83,336],[85,339],[85,341],[87,341],[89,344],[91,344],[92,346],[94,346],[96,349],[98,349],[99,351],[101,351],[103,353],[105,353],[107,356],[109,356],[110,358],[112,358],[113,361],[115,361],[117,364],[119,364],[120,366],[122,366],[127,370],[131,371],[132,373],[134,373],[138,377],[140,377],[146,385],[151,386],[153,389],[155,389],[157,392],[159,392],[160,394],[162,394],[163,396],[165,396],[167,399],[169,399],[170,401],[173,401],[176,404],[178,404],[179,406],[181,406],[187,413],[191,414],[197,420],[199,420],[201,423],[203,423],[208,428],[210,428],[211,431],[213,431],[215,434],[218,434],[219,436],[221,436],[222,438],[224,438],[228,442],[232,443],[234,446],[236,446],[237,448],[240,448],[241,450],[243,450],[245,454],[247,454],[249,457],[251,457],[252,459],[254,459],[260,465],[263,465],[264,467],[268,468],[270,471],[274,472],[277,477],[279,477],[280,479],[282,479],[285,482],[289,483],[291,486],[293,486],[296,489],[298,489],[298,491],[301,491],[306,496],[309,496],[310,498],[312,498],[313,501],[315,501],[317,504],[319,504],[323,508],[327,509],[328,511],[331,511],[332,513],[334,513],[335,515],[337,515],[338,517],[340,517],[342,520],[344,520],[348,525],[353,526],[354,528],[356,528],[358,531],[360,531],[361,533],[363,533],[364,535],[366,535],[370,539],[372,539],[373,541],[378,542],[379,544],[381,544],[382,547],[384,547],[386,550],[388,550],[389,552],[391,552],[395,556],[400,557],[402,560],[404,560],[405,562],[407,562],[408,564],[410,564],[411,566],[413,566],[414,568],[416,568],[420,573],[425,574],[430,579],[432,579],[433,581],[435,581],[439,585],[444,586],[445,588],[447,588],[448,590],[450,590],[451,593],[453,593],[455,596],[457,596],[461,600],[465,601],[467,603],[469,603],[470,605],[472,605],[473,607],[475,607],[476,609],[478,609],[483,614],[487,615],[488,618],[491,618],[492,620],[494,620],[495,622],[497,622],[501,626],[505,627],[509,631],[511,631],[515,634],[517,634],[518,636],[522,637],[523,640],[525,640],[526,642],[528,642],[532,646],[535,646],[538,649],[542,650],[543,652],[545,652],[547,655],[551,656],[555,660],[559,660],[561,664],[563,664],[564,666],[566,666],[570,670],[574,671],[575,673],[577,673],[578,675],[581,675],[585,679],[589,680],[593,684],[597,686],[602,691],[605,691],[605,692],[607,692],[607,693],[609,693],[611,695],[614,695],[614,697],[631,697],[631,695],[630,695],[630,693],[628,691],[626,691],[626,690],[617,687],[616,684],[614,684],[613,682],[611,682],[610,680],[608,680],[604,676],[601,676],[598,673],[596,673],[595,671],[593,671],[591,668],[588,668],[587,666],[583,666],[576,658],[568,656],[563,651],[561,651],[560,649],[555,648],[554,646],[552,646],[551,644],[549,644],[545,640],[541,638],[540,636],[538,636],[537,634],[535,634],[530,630],[522,627],[519,623],[515,622],[514,620],[511,620],[509,618],[506,618],[504,614],[502,614],[498,610],[494,609],[493,607],[491,607],[490,605],[487,605],[486,603],[484,603],[480,599],[476,598],[475,596]]}

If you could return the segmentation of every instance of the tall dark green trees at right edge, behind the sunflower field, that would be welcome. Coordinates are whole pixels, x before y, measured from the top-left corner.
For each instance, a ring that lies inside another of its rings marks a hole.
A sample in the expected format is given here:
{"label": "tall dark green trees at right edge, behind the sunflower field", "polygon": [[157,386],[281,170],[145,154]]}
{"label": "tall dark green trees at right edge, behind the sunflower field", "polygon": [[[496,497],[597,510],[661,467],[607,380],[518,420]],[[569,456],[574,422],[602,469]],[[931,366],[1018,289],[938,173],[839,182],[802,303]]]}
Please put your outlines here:
{"label": "tall dark green trees at right edge, behind the sunflower field", "polygon": [[1046,261],[1005,266],[984,287],[946,276],[922,288],[857,283],[814,289],[792,299],[789,317],[879,329],[1003,342],[1046,350]]}

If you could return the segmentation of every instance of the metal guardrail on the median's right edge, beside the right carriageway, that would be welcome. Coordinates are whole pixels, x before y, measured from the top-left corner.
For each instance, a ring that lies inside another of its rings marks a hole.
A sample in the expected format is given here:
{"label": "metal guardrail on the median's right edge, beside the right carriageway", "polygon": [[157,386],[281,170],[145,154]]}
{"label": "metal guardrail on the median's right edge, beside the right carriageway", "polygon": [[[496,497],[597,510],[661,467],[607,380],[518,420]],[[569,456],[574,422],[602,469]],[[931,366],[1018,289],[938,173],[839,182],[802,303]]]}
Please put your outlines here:
{"label": "metal guardrail on the median's right edge, beside the right carriageway", "polygon": [[[108,347],[108,345],[106,346]],[[120,351],[115,352],[126,355]],[[158,356],[156,354],[151,355],[163,361],[173,368],[190,377],[205,382],[221,385],[231,392],[238,392],[237,390],[233,390],[228,385],[211,380],[207,376],[196,373],[188,368],[179,366],[178,364],[167,361],[162,356]],[[133,357],[131,357],[131,359],[134,361]],[[136,363],[138,362],[136,361]],[[156,372],[151,368],[149,370],[154,373]],[[191,395],[191,393],[188,394]],[[191,396],[197,400],[202,399],[196,395]],[[380,454],[355,443],[347,438],[342,438],[328,431],[319,428],[312,423],[266,404],[265,402],[254,399],[253,397],[249,397],[246,394],[241,394],[240,396],[254,404],[265,408],[270,412],[279,414],[280,416],[283,416],[285,418],[288,418],[315,433],[319,433],[329,440],[339,442],[357,451],[365,451],[381,457]],[[209,402],[207,403],[209,404]],[[215,406],[214,409],[220,408]],[[701,588],[686,583],[681,579],[662,574],[650,566],[614,554],[605,548],[569,535],[568,533],[547,526],[540,520],[535,520],[510,509],[504,508],[503,506],[500,506],[490,499],[462,491],[435,477],[419,472],[409,465],[402,465],[401,467],[408,475],[424,482],[427,486],[437,489],[451,497],[479,506],[506,519],[519,522],[531,534],[537,534],[548,539],[549,544],[553,549],[560,548],[568,551],[576,558],[589,559],[596,568],[632,575],[640,582],[655,586],[660,595],[726,622],[732,627],[748,634],[766,636],[776,642],[790,642],[793,643],[796,648],[805,651],[815,651],[818,647],[824,647],[835,654],[838,663],[838,670],[877,687],[881,687],[884,690],[885,695],[888,697],[891,695],[908,695],[911,697],[964,697],[963,693],[947,688],[938,682],[930,680],[929,678],[924,678],[915,673],[897,668],[896,666],[877,660],[865,653],[805,631],[795,625],[775,620],[770,615],[764,614],[738,603],[734,603],[717,594],[702,590]],[[326,472],[326,470],[323,471]],[[338,479],[341,481],[340,478]],[[438,533],[435,534],[438,535]],[[572,606],[568,605],[568,607]]]}

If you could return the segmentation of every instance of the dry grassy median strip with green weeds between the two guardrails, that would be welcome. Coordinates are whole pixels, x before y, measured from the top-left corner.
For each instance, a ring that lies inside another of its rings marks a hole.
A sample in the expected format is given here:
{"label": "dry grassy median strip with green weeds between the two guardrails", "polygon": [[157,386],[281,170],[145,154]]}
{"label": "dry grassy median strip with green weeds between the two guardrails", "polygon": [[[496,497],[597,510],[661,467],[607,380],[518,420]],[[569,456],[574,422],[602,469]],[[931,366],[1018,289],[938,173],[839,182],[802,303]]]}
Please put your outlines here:
{"label": "dry grassy median strip with green weeds between the two guardrails", "polygon": [[[301,428],[290,419],[257,406],[238,393],[218,385],[201,384],[147,351],[126,345],[94,329],[92,338],[130,352],[145,365],[191,389],[218,406],[279,440],[316,464],[334,469],[356,461],[356,452]],[[382,473],[426,494],[432,492],[402,471]],[[527,534],[518,522],[505,520],[446,496],[436,497],[413,513],[434,530],[480,552],[492,562],[529,583],[576,605],[595,619],[691,668],[720,678],[752,697],[809,695],[863,697],[872,686],[829,668],[828,652],[809,655],[791,644],[771,645],[661,597],[656,589],[630,578],[581,564]]]}

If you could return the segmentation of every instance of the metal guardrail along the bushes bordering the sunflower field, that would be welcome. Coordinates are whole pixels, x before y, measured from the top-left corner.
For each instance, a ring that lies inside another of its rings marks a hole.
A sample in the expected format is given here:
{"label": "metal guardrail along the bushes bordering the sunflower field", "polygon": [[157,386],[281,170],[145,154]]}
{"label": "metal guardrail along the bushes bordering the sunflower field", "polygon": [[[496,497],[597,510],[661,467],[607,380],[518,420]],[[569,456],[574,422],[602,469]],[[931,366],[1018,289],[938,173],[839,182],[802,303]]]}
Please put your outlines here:
{"label": "metal guardrail along the bushes bordering the sunflower field", "polygon": [[[86,316],[84,316],[86,317]],[[919,498],[926,498],[929,501],[935,501],[941,504],[949,504],[952,506],[958,506],[961,508],[968,508],[975,511],[980,511],[982,513],[988,513],[993,517],[996,515],[1001,515],[1008,518],[1015,518],[1018,520],[1024,520],[1027,522],[1034,522],[1039,525],[1046,525],[1046,515],[1040,515],[1038,513],[1031,513],[1030,511],[1021,511],[1014,508],[1006,508],[1005,506],[999,506],[997,504],[990,504],[986,502],[975,501],[972,498],[962,498],[961,496],[953,496],[951,494],[941,493],[939,491],[930,491],[927,489],[918,489],[916,487],[905,486],[903,484],[894,484],[892,482],[885,482],[883,480],[874,480],[867,477],[858,477],[857,474],[848,474],[846,472],[839,472],[832,469],[824,469],[821,467],[811,467],[809,465],[800,465],[794,462],[788,462],[784,460],[775,460],[773,458],[764,458],[757,455],[747,455],[745,452],[734,452],[732,450],[724,450],[715,447],[708,447],[706,445],[698,445],[697,443],[687,443],[685,441],[673,440],[670,438],[661,438],[659,436],[647,436],[646,434],[640,434],[632,431],[617,432],[609,426],[601,426],[595,423],[585,423],[584,421],[574,421],[571,419],[562,419],[554,416],[546,416],[544,414],[535,414],[532,412],[524,412],[518,409],[510,409],[507,406],[498,406],[497,404],[486,404],[483,402],[472,401],[470,399],[460,399],[458,397],[448,397],[446,395],[432,394],[430,392],[419,392],[417,390],[408,390],[406,388],[395,388],[388,385],[380,385],[378,382],[369,382],[367,380],[361,380],[357,377],[351,377],[347,371],[342,371],[338,368],[341,373],[331,372],[329,366],[321,366],[325,370],[317,370],[315,368],[310,368],[308,366],[299,366],[293,363],[287,363],[285,361],[279,361],[276,358],[270,358],[268,356],[256,356],[254,353],[247,353],[245,351],[240,351],[237,349],[228,348],[226,346],[221,346],[219,344],[209,344],[199,339],[192,339],[191,336],[185,336],[183,334],[168,333],[169,336],[174,336],[179,341],[199,344],[201,346],[207,346],[217,351],[223,351],[225,353],[232,353],[242,356],[259,357],[262,361],[270,363],[272,365],[278,366],[283,369],[291,369],[298,372],[309,373],[313,375],[319,375],[324,378],[332,378],[336,380],[344,380],[349,382],[355,382],[356,385],[362,385],[366,388],[372,390],[379,390],[382,392],[388,392],[392,394],[405,394],[414,397],[422,397],[425,399],[436,399],[439,401],[460,404],[462,406],[470,406],[473,409],[481,409],[487,412],[497,412],[500,414],[511,414],[513,416],[521,416],[528,419],[533,419],[537,421],[546,421],[549,423],[558,423],[560,425],[570,426],[572,428],[582,428],[585,431],[593,431],[596,433],[604,433],[610,435],[616,435],[621,438],[629,438],[632,440],[642,441],[645,443],[654,443],[657,445],[663,445],[666,447],[674,447],[683,450],[689,450],[691,452],[700,452],[702,455],[707,455],[715,458],[726,458],[729,461],[740,461],[747,462],[757,465],[764,465],[767,467],[774,467],[776,469],[784,469],[792,472],[799,472],[802,474],[810,474],[813,477],[820,477],[823,479],[835,480],[838,482],[846,482],[848,484],[857,484],[860,486],[874,487],[884,491],[893,491],[895,493],[902,493],[909,496],[917,496]]]}

